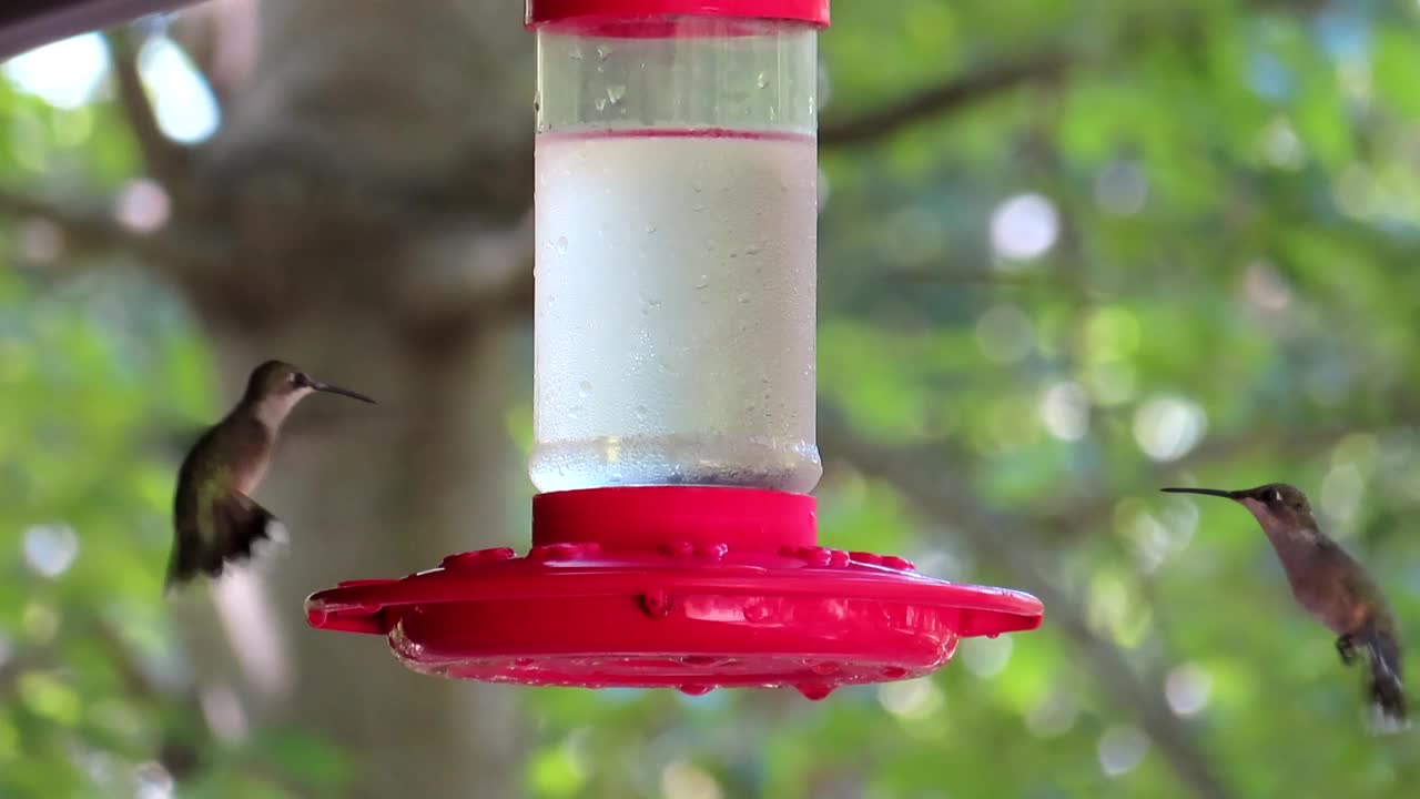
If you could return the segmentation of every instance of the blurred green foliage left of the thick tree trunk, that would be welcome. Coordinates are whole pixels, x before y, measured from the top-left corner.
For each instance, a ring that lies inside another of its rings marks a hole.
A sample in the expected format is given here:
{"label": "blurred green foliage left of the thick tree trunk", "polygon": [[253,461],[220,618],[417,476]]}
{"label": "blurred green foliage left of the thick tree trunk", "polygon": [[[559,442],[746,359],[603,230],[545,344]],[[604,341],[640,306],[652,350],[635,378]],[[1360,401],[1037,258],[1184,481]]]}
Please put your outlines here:
{"label": "blurred green foliage left of the thick tree trunk", "polygon": [[[51,108],[0,81],[0,176],[109,192],[133,173],[111,104]],[[207,345],[162,287],[106,259],[31,263],[0,230],[0,796],[132,796],[160,748],[189,796],[328,793],[342,752],[302,731],[204,731],[163,604],[173,431],[213,415]],[[145,793],[139,793],[145,795]]]}

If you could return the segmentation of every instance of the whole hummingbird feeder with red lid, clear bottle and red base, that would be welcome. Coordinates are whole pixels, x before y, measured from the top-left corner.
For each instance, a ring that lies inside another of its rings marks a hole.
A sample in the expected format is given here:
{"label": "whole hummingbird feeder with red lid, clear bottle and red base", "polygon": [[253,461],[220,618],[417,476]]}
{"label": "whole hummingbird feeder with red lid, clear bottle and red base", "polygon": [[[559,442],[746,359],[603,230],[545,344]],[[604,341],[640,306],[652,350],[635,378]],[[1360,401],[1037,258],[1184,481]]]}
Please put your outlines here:
{"label": "whole hummingbird feeder with red lid, clear bottle and red base", "polygon": [[818,542],[826,24],[828,0],[528,0],[532,546],[341,583],[312,627],[453,678],[822,698],[1039,626],[1032,596]]}

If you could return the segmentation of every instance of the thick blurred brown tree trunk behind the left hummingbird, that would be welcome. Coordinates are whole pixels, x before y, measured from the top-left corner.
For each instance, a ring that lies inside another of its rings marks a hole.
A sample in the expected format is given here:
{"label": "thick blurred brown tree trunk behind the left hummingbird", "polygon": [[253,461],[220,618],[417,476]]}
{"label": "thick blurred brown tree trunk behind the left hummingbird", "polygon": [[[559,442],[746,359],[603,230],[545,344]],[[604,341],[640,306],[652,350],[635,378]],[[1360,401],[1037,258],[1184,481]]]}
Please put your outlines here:
{"label": "thick blurred brown tree trunk behind the left hummingbird", "polygon": [[514,796],[514,688],[415,675],[381,638],[310,630],[301,603],[525,536],[508,529],[527,492],[504,414],[504,323],[527,317],[531,280],[521,4],[227,6],[217,27],[254,21],[256,57],[233,51],[241,36],[195,51],[223,124],[165,181],[170,227],[220,246],[175,280],[213,337],[223,398],[275,357],[379,405],[317,395],[287,422],[257,499],[290,545],[224,580],[214,617],[186,608],[202,688],[378,763],[352,796]]}

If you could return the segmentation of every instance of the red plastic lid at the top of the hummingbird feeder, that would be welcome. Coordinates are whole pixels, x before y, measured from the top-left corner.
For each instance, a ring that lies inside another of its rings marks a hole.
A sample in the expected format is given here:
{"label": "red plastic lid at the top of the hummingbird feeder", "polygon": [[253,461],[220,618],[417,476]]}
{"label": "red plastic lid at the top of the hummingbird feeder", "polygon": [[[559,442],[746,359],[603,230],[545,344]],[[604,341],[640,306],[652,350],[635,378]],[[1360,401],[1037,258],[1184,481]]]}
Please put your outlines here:
{"label": "red plastic lid at the top of the hummingbird feeder", "polygon": [[569,20],[692,16],[792,20],[828,27],[828,0],[527,0],[528,27]]}

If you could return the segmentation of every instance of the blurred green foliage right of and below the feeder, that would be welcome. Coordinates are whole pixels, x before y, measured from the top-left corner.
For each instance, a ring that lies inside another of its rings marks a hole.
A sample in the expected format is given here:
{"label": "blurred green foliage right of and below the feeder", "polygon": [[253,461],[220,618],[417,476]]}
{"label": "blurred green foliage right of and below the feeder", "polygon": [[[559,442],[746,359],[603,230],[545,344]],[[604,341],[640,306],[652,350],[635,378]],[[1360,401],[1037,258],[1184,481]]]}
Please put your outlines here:
{"label": "blurred green foliage right of and below the feeder", "polygon": [[[1420,545],[1404,533],[1420,500],[1420,182],[1402,144],[1416,14],[1186,6],[835,4],[825,121],[1038,48],[1106,60],[825,151],[819,390],[878,444],[940,446],[944,479],[1034,527],[1011,546],[1169,692],[1169,724],[1235,795],[1406,796],[1414,746],[1367,735],[1359,672],[1292,606],[1251,518],[1154,490],[1296,482],[1420,631]],[[1048,199],[1062,235],[1012,260],[990,225],[1022,193]],[[1052,425],[1052,391],[1086,419]],[[1196,441],[1166,441],[1194,417]],[[828,542],[1037,587],[888,483],[831,471],[819,499]],[[670,729],[648,692],[625,744],[605,724],[629,712],[621,699],[574,722],[555,721],[562,697],[534,702],[547,751],[596,736],[581,796],[694,795],[666,790],[682,762],[723,796],[1196,795],[1049,606],[1041,631],[998,647],[968,640],[930,680],[814,705],[676,698]]]}

